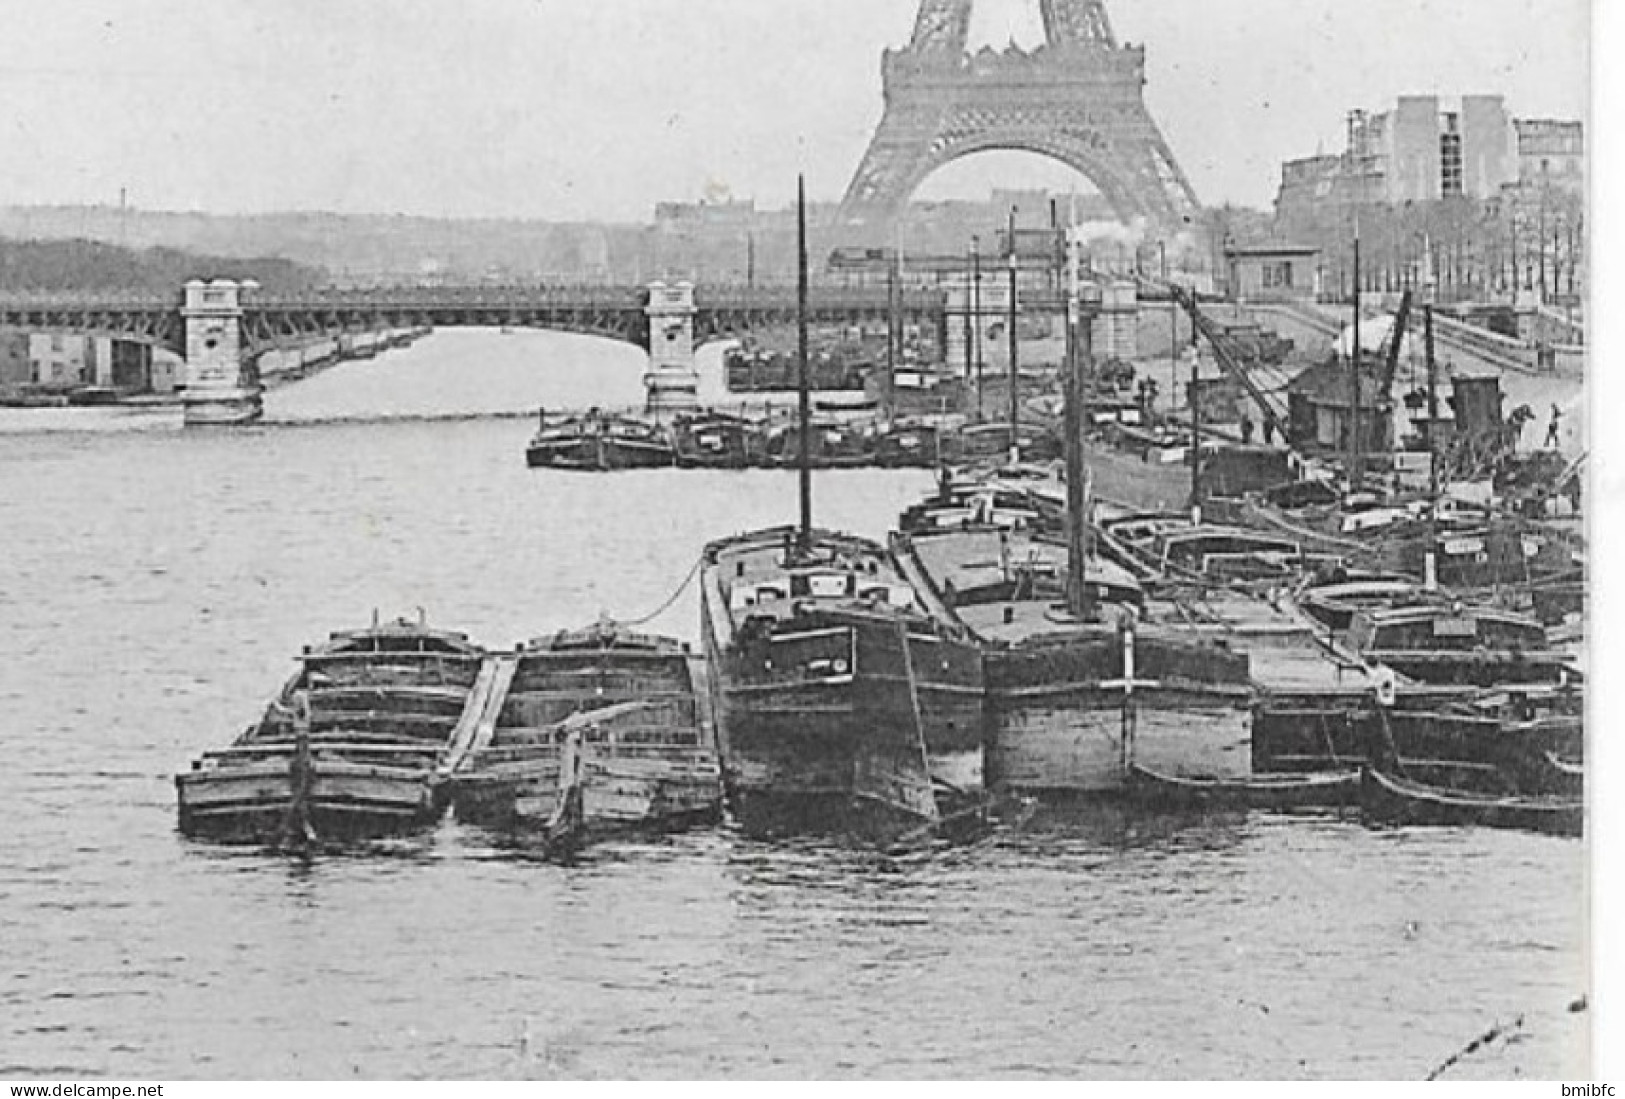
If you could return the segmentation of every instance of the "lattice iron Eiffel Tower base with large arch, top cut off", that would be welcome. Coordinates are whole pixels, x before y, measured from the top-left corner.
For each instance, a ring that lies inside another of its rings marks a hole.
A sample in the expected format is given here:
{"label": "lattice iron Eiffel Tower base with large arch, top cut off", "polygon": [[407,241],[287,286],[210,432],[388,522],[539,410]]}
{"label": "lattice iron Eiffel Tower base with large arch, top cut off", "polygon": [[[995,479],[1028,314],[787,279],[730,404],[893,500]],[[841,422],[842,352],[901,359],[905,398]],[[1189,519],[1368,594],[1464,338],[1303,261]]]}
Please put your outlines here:
{"label": "lattice iron Eiffel Tower base with large arch, top cut off", "polygon": [[973,0],[920,0],[913,41],[886,50],[886,114],[840,208],[848,244],[882,244],[931,172],[1019,150],[1084,174],[1124,223],[1172,239],[1199,203],[1146,109],[1146,50],[1120,46],[1103,0],[1040,0],[1045,44],[967,52]]}

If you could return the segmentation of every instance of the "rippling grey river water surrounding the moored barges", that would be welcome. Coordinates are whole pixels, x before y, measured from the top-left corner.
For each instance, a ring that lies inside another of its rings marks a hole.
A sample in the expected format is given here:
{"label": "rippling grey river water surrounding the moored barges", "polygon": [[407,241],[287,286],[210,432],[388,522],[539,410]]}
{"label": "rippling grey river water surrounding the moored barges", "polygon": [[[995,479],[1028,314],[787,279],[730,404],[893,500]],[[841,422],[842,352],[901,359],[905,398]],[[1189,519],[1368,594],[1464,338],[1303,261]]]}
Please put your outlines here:
{"label": "rippling grey river water surrounding the moored barges", "polygon": [[[448,333],[242,431],[0,418],[0,1075],[1419,1078],[1518,1016],[1451,1075],[1583,1066],[1558,839],[1043,811],[907,860],[720,829],[567,868],[455,823],[309,865],[180,839],[171,775],[301,644],[374,608],[489,644],[642,615],[705,540],[793,519],[790,473],[530,471],[523,421],[411,419],[629,403],[639,371]],[[928,484],[819,475],[819,520],[879,536]],[[655,628],[694,637],[692,592]]]}

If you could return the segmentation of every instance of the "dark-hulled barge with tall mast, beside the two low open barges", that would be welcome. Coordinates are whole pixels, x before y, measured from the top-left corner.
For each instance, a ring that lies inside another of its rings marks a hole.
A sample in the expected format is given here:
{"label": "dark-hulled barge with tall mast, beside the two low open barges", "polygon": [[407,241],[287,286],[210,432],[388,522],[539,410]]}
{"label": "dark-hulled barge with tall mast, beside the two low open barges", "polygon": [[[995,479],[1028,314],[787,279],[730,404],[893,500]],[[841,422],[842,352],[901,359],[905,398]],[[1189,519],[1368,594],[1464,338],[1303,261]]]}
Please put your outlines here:
{"label": "dark-hulled barge with tall mast, beside the two low open barges", "polygon": [[907,831],[980,784],[982,662],[886,550],[793,527],[715,541],[702,634],[748,831]]}

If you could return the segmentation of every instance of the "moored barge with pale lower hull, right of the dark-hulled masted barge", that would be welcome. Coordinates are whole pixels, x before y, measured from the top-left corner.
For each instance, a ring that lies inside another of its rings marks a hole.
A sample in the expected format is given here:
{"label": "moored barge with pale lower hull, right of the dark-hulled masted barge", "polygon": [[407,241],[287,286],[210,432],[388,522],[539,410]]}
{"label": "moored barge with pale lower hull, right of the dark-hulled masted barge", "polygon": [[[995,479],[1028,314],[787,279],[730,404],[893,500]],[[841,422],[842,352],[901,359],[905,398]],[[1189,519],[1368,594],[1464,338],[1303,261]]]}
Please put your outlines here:
{"label": "moored barge with pale lower hull, right of the dark-hulled masted barge", "polygon": [[986,779],[1040,795],[1121,792],[1129,766],[1250,774],[1245,655],[1138,621],[1134,577],[1089,556],[1098,613],[1068,610],[1068,550],[1025,530],[897,535],[897,559],[933,613],[985,662]]}

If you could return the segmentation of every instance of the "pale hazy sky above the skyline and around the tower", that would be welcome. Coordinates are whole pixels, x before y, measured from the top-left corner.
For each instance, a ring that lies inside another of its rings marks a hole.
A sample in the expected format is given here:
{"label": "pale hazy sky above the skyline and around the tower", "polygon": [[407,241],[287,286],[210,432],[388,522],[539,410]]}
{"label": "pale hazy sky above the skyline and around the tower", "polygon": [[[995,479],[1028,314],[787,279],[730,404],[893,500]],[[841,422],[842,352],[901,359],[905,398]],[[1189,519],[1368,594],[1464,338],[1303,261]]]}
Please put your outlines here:
{"label": "pale hazy sky above the skyline and around the tower", "polygon": [[[973,46],[1032,46],[982,0]],[[0,205],[647,221],[838,200],[916,0],[0,0]],[[1198,197],[1268,206],[1350,107],[1588,107],[1586,0],[1110,0]],[[990,161],[991,164],[991,161]],[[947,169],[985,185],[1025,180]],[[986,174],[986,172],[985,172]],[[1053,176],[1053,174],[1051,174]],[[938,182],[926,190],[939,190]],[[1048,182],[1048,180],[1046,180]],[[967,184],[968,185],[968,184]]]}

